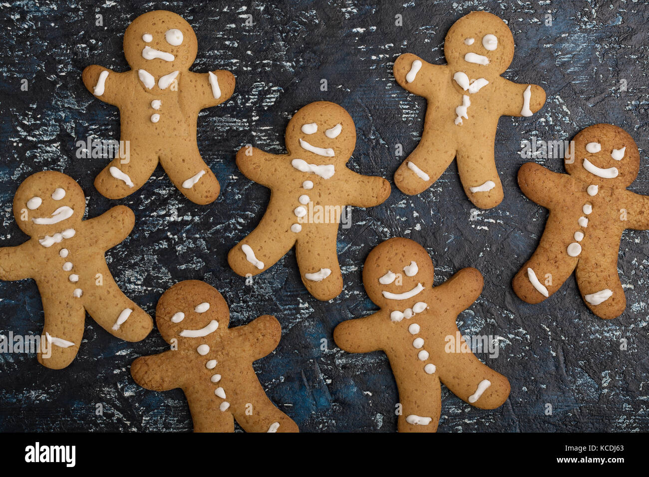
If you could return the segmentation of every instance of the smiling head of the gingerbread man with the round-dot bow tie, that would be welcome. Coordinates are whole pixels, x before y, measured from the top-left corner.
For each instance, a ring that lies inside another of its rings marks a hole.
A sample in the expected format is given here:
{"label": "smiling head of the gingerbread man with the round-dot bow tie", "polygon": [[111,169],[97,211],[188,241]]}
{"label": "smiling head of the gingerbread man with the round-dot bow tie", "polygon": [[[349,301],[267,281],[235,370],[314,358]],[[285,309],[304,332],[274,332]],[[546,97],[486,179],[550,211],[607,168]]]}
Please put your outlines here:
{"label": "smiling head of the gingerbread man with the round-dot bow tie", "polygon": [[423,298],[430,292],[433,280],[434,267],[428,252],[406,238],[380,243],[369,253],[363,266],[365,291],[381,308],[415,310],[415,304],[425,301]]}

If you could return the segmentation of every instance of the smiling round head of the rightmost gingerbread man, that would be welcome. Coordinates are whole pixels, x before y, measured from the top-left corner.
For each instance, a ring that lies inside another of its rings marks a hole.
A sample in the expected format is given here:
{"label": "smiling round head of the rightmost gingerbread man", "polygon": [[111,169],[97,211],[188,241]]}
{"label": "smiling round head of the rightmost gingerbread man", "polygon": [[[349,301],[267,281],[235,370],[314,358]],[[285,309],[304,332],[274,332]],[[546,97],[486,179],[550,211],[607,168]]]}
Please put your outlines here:
{"label": "smiling round head of the rightmost gingerbread man", "polygon": [[583,129],[572,140],[572,159],[565,162],[574,178],[609,188],[627,188],[640,170],[640,153],[630,134],[609,124]]}

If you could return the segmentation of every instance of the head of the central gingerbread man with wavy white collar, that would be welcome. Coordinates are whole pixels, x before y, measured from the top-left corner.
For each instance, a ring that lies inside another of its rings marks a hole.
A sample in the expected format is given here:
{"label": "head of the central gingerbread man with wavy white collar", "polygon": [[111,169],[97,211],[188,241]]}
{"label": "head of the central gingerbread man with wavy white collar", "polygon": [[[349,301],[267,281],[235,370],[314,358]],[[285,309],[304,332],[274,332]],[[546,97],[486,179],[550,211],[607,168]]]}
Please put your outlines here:
{"label": "head of the central gingerbread man with wavy white collar", "polygon": [[344,108],[317,101],[296,112],[286,128],[286,149],[306,162],[345,165],[356,147],[356,126]]}

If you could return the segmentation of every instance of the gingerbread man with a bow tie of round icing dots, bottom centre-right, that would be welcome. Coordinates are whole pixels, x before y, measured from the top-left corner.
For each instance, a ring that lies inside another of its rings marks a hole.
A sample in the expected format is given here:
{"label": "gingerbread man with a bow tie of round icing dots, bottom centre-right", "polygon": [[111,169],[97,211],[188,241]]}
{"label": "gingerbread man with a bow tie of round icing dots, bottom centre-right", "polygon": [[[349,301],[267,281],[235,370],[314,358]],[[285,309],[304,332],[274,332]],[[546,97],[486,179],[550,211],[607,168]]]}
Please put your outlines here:
{"label": "gingerbread man with a bow tie of round icing dots, bottom centre-right", "polygon": [[509,396],[505,376],[485,366],[461,339],[463,352],[447,352],[459,336],[456,318],[478,299],[482,275],[465,268],[433,287],[433,262],[417,242],[392,238],[370,252],[363,284],[380,311],[345,321],[334,330],[336,345],[352,353],[383,350],[397,380],[399,432],[435,432],[440,385],[480,409],[494,409]]}

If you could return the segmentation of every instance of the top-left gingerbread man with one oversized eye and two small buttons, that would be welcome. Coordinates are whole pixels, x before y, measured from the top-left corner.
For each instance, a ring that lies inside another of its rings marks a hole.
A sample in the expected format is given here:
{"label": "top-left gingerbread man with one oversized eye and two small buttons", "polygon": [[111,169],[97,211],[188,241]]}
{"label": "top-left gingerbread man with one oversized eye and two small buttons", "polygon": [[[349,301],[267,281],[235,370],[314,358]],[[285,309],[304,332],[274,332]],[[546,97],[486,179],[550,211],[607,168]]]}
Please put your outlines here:
{"label": "top-left gingerbread man with one oversized eye and two small buttons", "polygon": [[136,18],[124,34],[124,55],[131,69],[116,73],[92,65],[83,71],[86,88],[119,108],[126,158],[116,157],[95,179],[109,199],[138,190],[156,165],[190,201],[209,204],[219,181],[201,158],[196,142],[199,111],[223,103],[234,92],[228,71],[194,73],[197,53],[193,29],[182,17],[157,10]]}

